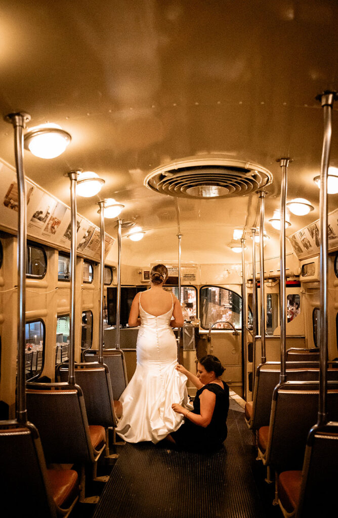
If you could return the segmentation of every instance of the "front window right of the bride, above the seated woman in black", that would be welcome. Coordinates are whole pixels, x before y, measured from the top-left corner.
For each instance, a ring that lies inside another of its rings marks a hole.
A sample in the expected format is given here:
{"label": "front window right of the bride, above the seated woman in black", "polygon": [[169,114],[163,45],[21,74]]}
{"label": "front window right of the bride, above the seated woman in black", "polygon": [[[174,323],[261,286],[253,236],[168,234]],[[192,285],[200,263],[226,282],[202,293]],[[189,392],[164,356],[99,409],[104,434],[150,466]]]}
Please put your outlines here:
{"label": "front window right of the bride, above the seated woman in black", "polygon": [[[208,329],[217,320],[231,322],[236,329],[242,327],[242,297],[220,286],[203,286],[200,289],[201,327]],[[214,329],[229,329],[222,323]]]}

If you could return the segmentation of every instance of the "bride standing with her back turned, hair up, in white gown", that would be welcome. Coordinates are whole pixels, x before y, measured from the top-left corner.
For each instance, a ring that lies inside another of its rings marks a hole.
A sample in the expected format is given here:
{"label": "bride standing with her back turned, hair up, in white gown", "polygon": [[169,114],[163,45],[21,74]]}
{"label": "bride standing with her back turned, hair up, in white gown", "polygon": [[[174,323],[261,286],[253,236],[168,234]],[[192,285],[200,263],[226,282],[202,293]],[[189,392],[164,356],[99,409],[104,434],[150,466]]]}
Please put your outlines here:
{"label": "bride standing with her back turned, hair up, in white gown", "polygon": [[[137,293],[129,325],[140,325],[134,376],[120,401],[123,415],[116,428],[128,442],[157,443],[181,425],[183,416],[172,409],[174,402],[187,402],[187,377],[175,369],[177,342],[173,327],[184,324],[179,300],[163,290],[168,270],[163,264],[150,271],[150,290]],[[174,319],[172,319],[174,316]]]}

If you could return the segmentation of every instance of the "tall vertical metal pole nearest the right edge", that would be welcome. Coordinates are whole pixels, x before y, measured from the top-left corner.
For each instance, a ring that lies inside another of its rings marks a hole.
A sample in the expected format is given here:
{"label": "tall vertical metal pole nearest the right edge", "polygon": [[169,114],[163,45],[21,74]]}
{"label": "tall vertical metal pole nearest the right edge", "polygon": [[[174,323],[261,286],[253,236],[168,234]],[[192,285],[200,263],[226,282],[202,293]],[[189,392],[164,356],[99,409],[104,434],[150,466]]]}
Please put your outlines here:
{"label": "tall vertical metal pole nearest the right edge", "polygon": [[318,424],[327,422],[327,364],[328,364],[328,167],[330,161],[332,106],[336,92],[324,92],[321,100],[324,118],[324,137],[320,164],[319,233],[320,233],[320,371]]}

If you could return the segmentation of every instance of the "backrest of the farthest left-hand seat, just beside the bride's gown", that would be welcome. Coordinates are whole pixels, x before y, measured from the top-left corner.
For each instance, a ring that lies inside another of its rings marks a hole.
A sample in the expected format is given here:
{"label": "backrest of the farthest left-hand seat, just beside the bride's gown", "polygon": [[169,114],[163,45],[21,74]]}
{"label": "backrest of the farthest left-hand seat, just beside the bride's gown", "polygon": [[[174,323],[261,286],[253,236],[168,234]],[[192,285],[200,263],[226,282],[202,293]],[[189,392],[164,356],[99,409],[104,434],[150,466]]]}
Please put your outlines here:
{"label": "backrest of the farthest left-hand seat, just beside the bride's gown", "polygon": [[[85,362],[97,362],[97,351],[87,350],[84,353]],[[114,399],[119,399],[128,385],[123,351],[120,349],[104,349],[103,361],[109,369],[111,389]]]}

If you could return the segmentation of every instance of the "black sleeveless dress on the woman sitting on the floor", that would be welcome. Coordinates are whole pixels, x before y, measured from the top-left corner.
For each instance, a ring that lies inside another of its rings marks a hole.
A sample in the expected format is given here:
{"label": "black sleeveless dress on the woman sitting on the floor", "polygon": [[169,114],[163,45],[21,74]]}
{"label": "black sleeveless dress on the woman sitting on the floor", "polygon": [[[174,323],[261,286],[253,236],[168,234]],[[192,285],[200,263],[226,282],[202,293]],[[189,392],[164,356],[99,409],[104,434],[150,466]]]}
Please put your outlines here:
{"label": "black sleeveless dress on the woman sitting on the floor", "polygon": [[205,428],[189,421],[189,418],[170,435],[183,450],[209,452],[221,447],[228,435],[227,417],[229,411],[229,387],[224,381],[223,389],[216,383],[208,383],[199,389],[193,402],[192,413],[201,413],[200,396],[204,390],[216,395],[212,420]]}

